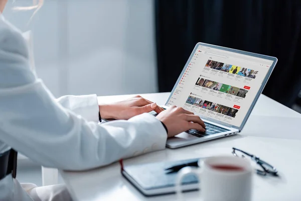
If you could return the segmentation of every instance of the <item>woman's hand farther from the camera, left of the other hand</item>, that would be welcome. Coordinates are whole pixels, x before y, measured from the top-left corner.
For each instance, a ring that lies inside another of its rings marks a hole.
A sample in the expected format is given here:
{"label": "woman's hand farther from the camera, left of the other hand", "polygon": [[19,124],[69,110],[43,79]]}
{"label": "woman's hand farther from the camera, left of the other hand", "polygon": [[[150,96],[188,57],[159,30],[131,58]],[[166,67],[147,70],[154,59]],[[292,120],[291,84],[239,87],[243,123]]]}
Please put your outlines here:
{"label": "woman's hand farther from the camera, left of the other hand", "polygon": [[99,112],[102,119],[128,120],[134,116],[152,111],[159,114],[164,111],[164,109],[140,95],[117,103],[99,105]]}

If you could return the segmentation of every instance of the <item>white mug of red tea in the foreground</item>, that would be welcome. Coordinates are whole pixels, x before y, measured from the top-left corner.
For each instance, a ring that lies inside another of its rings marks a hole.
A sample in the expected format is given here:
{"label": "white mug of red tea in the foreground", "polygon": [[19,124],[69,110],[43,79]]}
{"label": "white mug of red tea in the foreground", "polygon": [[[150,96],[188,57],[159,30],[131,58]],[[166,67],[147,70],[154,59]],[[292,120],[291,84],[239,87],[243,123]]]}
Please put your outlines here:
{"label": "white mug of red tea in the foreground", "polygon": [[185,167],[177,175],[176,191],[183,200],[182,179],[194,174],[204,201],[250,201],[253,170],[250,162],[233,156],[218,156],[199,161],[199,168]]}

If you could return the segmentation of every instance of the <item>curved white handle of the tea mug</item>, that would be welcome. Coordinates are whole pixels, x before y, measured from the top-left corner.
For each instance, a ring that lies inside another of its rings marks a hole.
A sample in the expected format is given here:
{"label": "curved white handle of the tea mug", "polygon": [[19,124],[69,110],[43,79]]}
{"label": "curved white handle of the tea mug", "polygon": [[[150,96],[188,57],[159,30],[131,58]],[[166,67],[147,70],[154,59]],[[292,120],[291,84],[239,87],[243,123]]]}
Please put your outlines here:
{"label": "curved white handle of the tea mug", "polygon": [[177,194],[177,200],[184,200],[184,196],[182,193],[182,189],[181,189],[181,183],[182,180],[185,176],[187,175],[195,175],[196,177],[198,177],[199,182],[200,182],[200,173],[201,173],[201,168],[200,167],[184,167],[182,168],[178,174],[177,174],[177,178],[176,178],[176,194]]}

